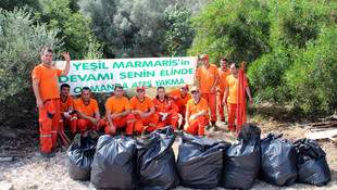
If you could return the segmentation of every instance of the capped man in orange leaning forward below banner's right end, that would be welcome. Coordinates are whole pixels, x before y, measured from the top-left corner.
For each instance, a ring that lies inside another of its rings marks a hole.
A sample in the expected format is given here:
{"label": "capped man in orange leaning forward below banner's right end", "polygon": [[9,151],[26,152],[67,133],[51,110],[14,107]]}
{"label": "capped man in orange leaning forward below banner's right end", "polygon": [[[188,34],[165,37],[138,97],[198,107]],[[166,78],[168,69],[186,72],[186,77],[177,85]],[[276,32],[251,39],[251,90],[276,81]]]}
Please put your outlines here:
{"label": "capped man in orange leaning forward below banner's right end", "polygon": [[168,93],[166,93],[166,97],[172,98],[179,109],[178,114],[182,115],[182,124],[180,124],[179,129],[184,128],[186,104],[188,100],[191,99],[190,94],[188,93],[188,89],[189,89],[188,84],[182,84],[180,89],[172,90]]}

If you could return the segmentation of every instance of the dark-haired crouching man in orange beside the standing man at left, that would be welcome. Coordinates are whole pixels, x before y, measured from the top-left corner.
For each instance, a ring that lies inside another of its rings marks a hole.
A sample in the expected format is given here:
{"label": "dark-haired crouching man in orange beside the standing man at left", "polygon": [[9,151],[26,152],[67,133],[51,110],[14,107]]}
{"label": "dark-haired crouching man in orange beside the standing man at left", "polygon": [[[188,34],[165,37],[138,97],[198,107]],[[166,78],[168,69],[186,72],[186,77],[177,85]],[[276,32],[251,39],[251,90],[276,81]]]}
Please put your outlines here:
{"label": "dark-haired crouching man in orange beside the standing man at left", "polygon": [[77,125],[77,114],[74,112],[74,99],[70,94],[71,87],[67,84],[61,85],[61,93],[60,93],[60,127],[64,131],[64,126],[71,126],[71,130],[73,136],[76,132]]}

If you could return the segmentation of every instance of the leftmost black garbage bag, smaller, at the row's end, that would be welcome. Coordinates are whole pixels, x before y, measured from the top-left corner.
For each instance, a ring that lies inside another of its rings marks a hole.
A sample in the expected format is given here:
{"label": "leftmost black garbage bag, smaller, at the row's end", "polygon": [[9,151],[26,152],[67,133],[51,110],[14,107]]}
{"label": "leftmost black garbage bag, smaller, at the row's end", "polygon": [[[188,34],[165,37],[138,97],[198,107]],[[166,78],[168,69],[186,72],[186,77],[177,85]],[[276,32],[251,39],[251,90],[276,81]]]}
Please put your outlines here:
{"label": "leftmost black garbage bag, smaller, at the row's end", "polygon": [[91,164],[98,135],[89,130],[84,136],[77,134],[67,149],[67,173],[75,180],[90,180]]}

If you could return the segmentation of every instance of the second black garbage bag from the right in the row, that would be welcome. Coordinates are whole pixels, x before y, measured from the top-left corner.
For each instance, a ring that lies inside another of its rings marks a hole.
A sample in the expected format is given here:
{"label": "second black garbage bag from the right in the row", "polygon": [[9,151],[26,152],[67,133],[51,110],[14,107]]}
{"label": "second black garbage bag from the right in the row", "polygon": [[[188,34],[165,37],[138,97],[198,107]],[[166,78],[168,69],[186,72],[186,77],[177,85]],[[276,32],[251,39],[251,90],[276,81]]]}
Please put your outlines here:
{"label": "second black garbage bag from the right in the row", "polygon": [[290,186],[297,177],[297,152],[288,140],[278,140],[283,134],[269,134],[261,140],[262,180],[275,186]]}

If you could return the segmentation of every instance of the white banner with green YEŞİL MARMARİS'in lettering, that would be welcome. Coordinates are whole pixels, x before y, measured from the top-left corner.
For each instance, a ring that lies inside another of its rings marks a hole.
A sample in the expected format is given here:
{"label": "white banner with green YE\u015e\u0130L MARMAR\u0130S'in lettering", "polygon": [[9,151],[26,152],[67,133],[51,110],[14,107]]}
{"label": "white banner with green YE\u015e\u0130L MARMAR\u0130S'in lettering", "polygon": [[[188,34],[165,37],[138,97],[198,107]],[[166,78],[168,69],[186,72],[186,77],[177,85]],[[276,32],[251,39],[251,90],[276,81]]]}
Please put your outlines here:
{"label": "white banner with green YE\u015e\u0130L MARMAR\u0130S'in lettering", "polygon": [[[194,84],[197,62],[197,56],[72,61],[68,75],[59,77],[59,86],[68,84],[73,96],[80,93],[83,87],[89,87],[93,92],[111,92],[116,85],[128,89],[139,85]],[[65,61],[57,61],[54,66],[63,69]]]}

